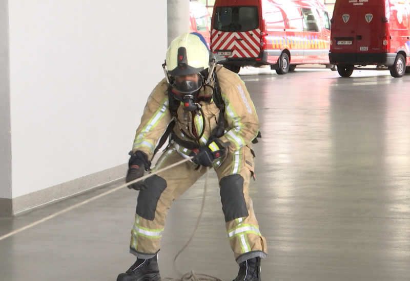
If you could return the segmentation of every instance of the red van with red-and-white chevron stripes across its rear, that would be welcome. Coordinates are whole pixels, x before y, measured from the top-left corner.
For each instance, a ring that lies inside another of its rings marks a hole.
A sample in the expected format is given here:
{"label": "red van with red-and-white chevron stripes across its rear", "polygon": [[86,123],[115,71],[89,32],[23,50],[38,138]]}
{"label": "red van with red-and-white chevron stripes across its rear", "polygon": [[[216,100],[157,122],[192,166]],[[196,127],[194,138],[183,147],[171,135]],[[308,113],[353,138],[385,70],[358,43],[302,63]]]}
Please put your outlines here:
{"label": "red van with red-and-white chevron stripes across its rear", "polygon": [[278,74],[329,62],[330,18],[320,0],[216,0],[211,50],[223,65],[270,65]]}

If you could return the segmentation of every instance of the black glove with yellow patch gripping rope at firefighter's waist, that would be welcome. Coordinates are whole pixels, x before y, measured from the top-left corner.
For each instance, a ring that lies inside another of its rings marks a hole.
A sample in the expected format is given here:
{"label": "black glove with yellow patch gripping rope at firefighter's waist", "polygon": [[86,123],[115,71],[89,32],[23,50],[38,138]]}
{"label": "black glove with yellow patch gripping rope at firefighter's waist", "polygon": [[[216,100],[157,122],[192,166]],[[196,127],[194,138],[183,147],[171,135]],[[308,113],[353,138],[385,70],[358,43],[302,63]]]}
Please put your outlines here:
{"label": "black glove with yellow patch gripping rope at firefighter's waist", "polygon": [[194,156],[192,161],[204,167],[211,167],[215,159],[226,154],[226,146],[218,138],[210,139],[208,145],[194,149],[189,156]]}

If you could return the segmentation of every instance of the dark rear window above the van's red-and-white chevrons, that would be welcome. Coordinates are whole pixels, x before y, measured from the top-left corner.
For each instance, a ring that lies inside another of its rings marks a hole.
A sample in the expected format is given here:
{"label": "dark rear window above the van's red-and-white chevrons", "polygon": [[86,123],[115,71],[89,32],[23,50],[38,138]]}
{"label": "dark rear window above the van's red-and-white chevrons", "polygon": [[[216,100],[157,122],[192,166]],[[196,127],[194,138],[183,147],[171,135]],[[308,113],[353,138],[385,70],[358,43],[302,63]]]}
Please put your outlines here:
{"label": "dark rear window above the van's red-and-white chevrons", "polygon": [[214,29],[226,32],[244,32],[259,27],[256,6],[217,7],[214,15]]}

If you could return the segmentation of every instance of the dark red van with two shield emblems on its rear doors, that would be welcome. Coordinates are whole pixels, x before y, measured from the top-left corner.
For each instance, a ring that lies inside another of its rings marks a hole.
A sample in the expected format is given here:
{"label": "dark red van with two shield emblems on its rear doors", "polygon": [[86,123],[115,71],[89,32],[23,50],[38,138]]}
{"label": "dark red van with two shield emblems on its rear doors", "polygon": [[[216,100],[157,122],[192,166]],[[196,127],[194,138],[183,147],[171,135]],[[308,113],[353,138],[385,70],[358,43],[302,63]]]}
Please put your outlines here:
{"label": "dark red van with two shield emblems on its rear doors", "polygon": [[336,0],[329,59],[340,76],[366,65],[393,77],[409,72],[409,13],[408,0]]}

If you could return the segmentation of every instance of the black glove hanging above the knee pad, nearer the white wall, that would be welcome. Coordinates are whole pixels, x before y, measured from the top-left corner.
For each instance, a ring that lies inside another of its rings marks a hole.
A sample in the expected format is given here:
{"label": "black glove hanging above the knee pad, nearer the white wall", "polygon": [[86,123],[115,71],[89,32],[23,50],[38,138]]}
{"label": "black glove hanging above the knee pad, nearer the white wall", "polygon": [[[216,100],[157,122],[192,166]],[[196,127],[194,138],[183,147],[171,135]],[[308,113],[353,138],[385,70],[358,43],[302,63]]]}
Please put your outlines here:
{"label": "black glove hanging above the knee pad, nearer the white wall", "polygon": [[[137,150],[135,153],[131,151],[129,154],[131,157],[128,161],[128,171],[125,178],[126,182],[130,182],[144,176],[144,171],[148,171],[151,167],[151,161],[148,160],[148,156],[144,152]],[[129,189],[145,190],[147,185],[143,181],[137,181],[127,187]]]}

